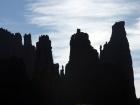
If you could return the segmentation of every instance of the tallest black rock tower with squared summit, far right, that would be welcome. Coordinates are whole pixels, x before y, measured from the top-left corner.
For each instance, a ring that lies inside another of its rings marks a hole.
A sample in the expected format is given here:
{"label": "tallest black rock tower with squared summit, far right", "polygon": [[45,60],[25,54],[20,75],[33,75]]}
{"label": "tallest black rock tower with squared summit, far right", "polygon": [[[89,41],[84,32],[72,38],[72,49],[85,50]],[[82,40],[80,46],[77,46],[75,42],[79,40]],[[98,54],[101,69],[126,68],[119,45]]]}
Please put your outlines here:
{"label": "tallest black rock tower with squared summit, far right", "polygon": [[132,59],[124,28],[125,22],[112,26],[110,41],[101,50],[103,100],[108,104],[134,105],[136,102]]}

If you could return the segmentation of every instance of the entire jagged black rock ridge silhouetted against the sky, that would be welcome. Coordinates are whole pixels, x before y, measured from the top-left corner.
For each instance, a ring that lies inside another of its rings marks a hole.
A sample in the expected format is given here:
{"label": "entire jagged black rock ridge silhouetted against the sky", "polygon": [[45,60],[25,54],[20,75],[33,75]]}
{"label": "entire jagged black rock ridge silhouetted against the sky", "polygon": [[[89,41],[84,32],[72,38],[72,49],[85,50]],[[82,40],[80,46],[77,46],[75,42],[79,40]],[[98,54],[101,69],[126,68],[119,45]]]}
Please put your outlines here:
{"label": "entire jagged black rock ridge silhouetted against the sky", "polygon": [[70,40],[69,62],[59,74],[51,41],[0,28],[0,104],[18,105],[139,105],[125,22],[112,26],[100,55],[87,33],[77,29]]}

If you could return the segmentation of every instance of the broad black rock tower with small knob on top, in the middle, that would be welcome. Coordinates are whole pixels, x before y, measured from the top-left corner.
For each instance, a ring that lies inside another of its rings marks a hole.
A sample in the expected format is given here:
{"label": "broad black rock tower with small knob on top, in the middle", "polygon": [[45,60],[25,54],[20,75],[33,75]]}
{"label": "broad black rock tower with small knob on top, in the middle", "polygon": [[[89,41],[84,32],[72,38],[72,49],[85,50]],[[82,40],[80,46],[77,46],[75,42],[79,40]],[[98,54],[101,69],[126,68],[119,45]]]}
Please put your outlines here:
{"label": "broad black rock tower with small knob on top, in the middle", "polygon": [[88,34],[77,29],[70,40],[70,60],[66,66],[70,102],[89,104],[95,101],[98,66],[98,53],[90,45]]}

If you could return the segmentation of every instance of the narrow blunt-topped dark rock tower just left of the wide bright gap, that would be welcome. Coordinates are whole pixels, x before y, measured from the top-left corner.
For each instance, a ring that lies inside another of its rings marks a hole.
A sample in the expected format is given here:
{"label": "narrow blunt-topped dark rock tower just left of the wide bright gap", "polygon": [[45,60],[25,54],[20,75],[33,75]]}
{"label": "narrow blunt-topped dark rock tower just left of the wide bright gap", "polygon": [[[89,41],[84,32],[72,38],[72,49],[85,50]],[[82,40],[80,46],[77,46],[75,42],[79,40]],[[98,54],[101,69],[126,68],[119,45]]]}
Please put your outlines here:
{"label": "narrow blunt-topped dark rock tower just left of the wide bright gap", "polygon": [[53,66],[51,49],[49,37],[47,35],[39,37],[39,41],[36,43],[36,70],[40,76],[44,75]]}

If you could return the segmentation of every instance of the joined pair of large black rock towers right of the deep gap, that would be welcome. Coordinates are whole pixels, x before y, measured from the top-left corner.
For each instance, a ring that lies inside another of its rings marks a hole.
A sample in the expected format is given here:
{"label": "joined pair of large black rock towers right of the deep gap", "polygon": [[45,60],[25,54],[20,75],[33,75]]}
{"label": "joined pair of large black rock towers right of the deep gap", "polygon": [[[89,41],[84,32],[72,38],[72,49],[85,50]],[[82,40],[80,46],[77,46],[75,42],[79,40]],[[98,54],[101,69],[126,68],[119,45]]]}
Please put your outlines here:
{"label": "joined pair of large black rock towers right of the deep gap", "polygon": [[132,58],[124,25],[121,21],[112,26],[110,41],[103,48],[100,46],[100,57],[86,33],[77,30],[72,35],[65,75],[69,102],[136,104]]}

